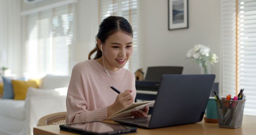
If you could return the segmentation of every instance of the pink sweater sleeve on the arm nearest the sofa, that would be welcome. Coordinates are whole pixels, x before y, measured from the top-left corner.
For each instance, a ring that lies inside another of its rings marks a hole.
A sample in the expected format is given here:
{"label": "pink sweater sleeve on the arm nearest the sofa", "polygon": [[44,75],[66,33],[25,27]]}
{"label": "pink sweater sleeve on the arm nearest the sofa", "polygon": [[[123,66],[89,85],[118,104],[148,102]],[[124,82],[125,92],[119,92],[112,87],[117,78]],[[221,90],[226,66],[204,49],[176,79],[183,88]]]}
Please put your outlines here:
{"label": "pink sweater sleeve on the arm nearest the sofa", "polygon": [[88,103],[84,96],[83,81],[80,67],[75,65],[70,79],[66,99],[66,123],[88,122],[103,120],[107,117],[107,107],[88,111]]}

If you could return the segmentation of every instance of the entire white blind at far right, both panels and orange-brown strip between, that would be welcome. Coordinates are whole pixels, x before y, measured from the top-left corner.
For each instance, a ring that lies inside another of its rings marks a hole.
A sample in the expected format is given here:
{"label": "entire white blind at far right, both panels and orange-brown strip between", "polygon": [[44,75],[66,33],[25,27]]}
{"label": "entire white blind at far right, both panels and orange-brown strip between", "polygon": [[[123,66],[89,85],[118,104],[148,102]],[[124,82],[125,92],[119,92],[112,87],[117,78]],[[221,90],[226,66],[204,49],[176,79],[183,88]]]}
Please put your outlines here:
{"label": "entire white blind at far right, both panels and orange-brown strip between", "polygon": [[256,0],[222,0],[222,8],[223,94],[244,88],[244,113],[256,115]]}

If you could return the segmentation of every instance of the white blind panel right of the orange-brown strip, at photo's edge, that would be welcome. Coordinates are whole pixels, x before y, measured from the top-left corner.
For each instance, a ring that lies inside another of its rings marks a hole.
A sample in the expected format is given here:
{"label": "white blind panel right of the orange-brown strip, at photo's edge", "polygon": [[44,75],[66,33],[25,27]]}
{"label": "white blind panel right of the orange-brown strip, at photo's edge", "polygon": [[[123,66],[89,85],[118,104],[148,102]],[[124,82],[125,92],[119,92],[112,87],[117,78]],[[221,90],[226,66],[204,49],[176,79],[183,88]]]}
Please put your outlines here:
{"label": "white blind panel right of the orange-brown strip, at photo's edge", "polygon": [[238,0],[238,85],[244,88],[244,112],[256,115],[256,0]]}

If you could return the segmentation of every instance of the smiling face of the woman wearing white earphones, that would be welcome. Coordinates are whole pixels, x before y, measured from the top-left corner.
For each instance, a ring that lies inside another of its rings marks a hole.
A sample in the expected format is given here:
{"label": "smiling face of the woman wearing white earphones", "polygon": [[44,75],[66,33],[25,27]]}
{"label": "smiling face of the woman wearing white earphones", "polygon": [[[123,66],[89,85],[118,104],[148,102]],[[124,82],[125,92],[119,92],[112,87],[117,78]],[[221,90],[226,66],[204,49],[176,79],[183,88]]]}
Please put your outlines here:
{"label": "smiling face of the woman wearing white earphones", "polygon": [[117,31],[107,38],[102,49],[106,68],[117,71],[126,65],[132,55],[132,37],[125,32]]}

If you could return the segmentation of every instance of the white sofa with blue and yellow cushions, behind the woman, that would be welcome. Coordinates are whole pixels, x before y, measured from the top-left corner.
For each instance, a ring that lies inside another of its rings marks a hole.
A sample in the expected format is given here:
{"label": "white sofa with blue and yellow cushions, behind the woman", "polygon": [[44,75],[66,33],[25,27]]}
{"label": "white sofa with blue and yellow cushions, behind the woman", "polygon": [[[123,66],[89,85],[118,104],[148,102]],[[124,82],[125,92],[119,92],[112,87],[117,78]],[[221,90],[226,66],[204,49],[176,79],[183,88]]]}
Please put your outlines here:
{"label": "white sofa with blue and yellow cushions, behind the woman", "polygon": [[0,135],[33,135],[39,118],[66,111],[70,76],[47,75],[39,89],[28,88],[25,100],[0,99]]}

